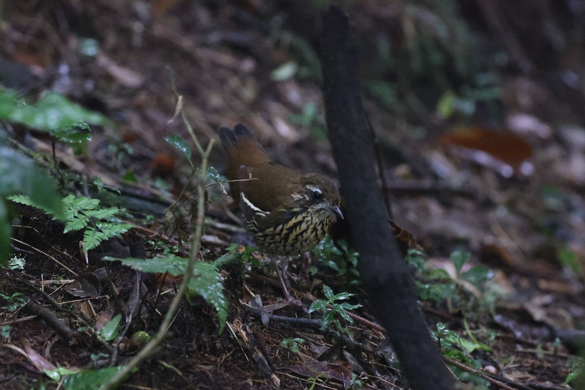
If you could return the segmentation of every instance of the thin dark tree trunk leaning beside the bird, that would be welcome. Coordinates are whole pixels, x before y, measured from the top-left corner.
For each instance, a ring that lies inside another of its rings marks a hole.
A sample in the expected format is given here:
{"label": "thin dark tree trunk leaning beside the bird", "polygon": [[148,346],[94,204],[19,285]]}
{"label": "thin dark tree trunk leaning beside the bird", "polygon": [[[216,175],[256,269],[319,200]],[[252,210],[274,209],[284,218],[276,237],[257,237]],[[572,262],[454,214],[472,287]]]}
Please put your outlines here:
{"label": "thin dark tree trunk leaning beside the bird", "polygon": [[363,287],[415,390],[453,389],[418,308],[407,264],[394,242],[374,171],[373,139],[360,98],[357,48],[339,6],[324,15],[321,63],[333,157],[339,168]]}

